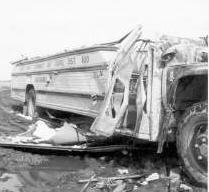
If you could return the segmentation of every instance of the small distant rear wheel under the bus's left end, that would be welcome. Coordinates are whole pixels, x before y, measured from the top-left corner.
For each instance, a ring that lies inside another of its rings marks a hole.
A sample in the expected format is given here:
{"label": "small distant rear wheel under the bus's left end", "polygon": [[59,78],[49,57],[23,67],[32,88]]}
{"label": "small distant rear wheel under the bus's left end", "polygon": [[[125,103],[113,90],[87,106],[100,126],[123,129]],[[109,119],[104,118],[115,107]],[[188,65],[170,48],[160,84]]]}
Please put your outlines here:
{"label": "small distant rear wheel under the bus's left end", "polygon": [[34,89],[30,89],[27,94],[27,115],[30,117],[34,117],[36,112],[36,94]]}

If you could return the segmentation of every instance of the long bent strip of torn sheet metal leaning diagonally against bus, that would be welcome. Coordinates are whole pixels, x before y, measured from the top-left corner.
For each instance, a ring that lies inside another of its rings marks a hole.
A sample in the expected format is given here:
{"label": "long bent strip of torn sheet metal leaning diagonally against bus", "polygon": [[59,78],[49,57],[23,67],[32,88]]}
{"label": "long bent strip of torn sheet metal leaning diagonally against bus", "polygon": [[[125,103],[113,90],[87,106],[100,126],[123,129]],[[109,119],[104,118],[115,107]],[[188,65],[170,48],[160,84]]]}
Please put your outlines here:
{"label": "long bent strip of torn sheet metal leaning diagonally against bus", "polygon": [[[139,46],[136,41],[141,36],[141,27],[138,26],[129,36],[122,42],[116,59],[110,66],[108,93],[104,99],[100,114],[91,126],[91,131],[97,135],[111,136],[116,128],[119,128],[128,106],[129,84],[131,74],[137,63],[139,55]],[[144,42],[140,42],[143,47]],[[114,103],[114,87],[119,81],[124,89],[121,104],[115,106]],[[115,108],[117,107],[117,110]]]}

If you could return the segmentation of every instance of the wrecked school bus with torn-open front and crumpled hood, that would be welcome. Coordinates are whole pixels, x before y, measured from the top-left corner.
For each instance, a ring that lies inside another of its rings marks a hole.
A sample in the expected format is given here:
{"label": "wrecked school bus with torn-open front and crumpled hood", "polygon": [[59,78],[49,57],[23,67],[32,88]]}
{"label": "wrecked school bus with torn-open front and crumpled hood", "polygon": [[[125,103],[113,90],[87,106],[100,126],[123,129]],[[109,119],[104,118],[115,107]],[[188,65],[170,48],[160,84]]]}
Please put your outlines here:
{"label": "wrecked school bus with torn-open front and crumpled hood", "polygon": [[[146,35],[146,34],[145,34]],[[117,42],[13,62],[11,96],[93,117],[85,135],[176,141],[186,173],[207,183],[208,53],[202,40],[149,39],[138,26]]]}

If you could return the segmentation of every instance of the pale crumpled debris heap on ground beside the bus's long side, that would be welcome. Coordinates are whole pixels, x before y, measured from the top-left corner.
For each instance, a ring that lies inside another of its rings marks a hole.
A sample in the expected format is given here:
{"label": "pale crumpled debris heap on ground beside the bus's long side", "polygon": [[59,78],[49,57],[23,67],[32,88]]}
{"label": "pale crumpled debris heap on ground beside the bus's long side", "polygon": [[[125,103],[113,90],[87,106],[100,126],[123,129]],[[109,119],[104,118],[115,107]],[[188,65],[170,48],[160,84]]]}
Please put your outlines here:
{"label": "pale crumpled debris heap on ground beside the bus's long side", "polygon": [[86,137],[77,130],[75,124],[65,122],[62,127],[52,128],[42,120],[30,125],[26,132],[16,136],[8,136],[7,139],[14,143],[52,145],[82,144],[87,141]]}

